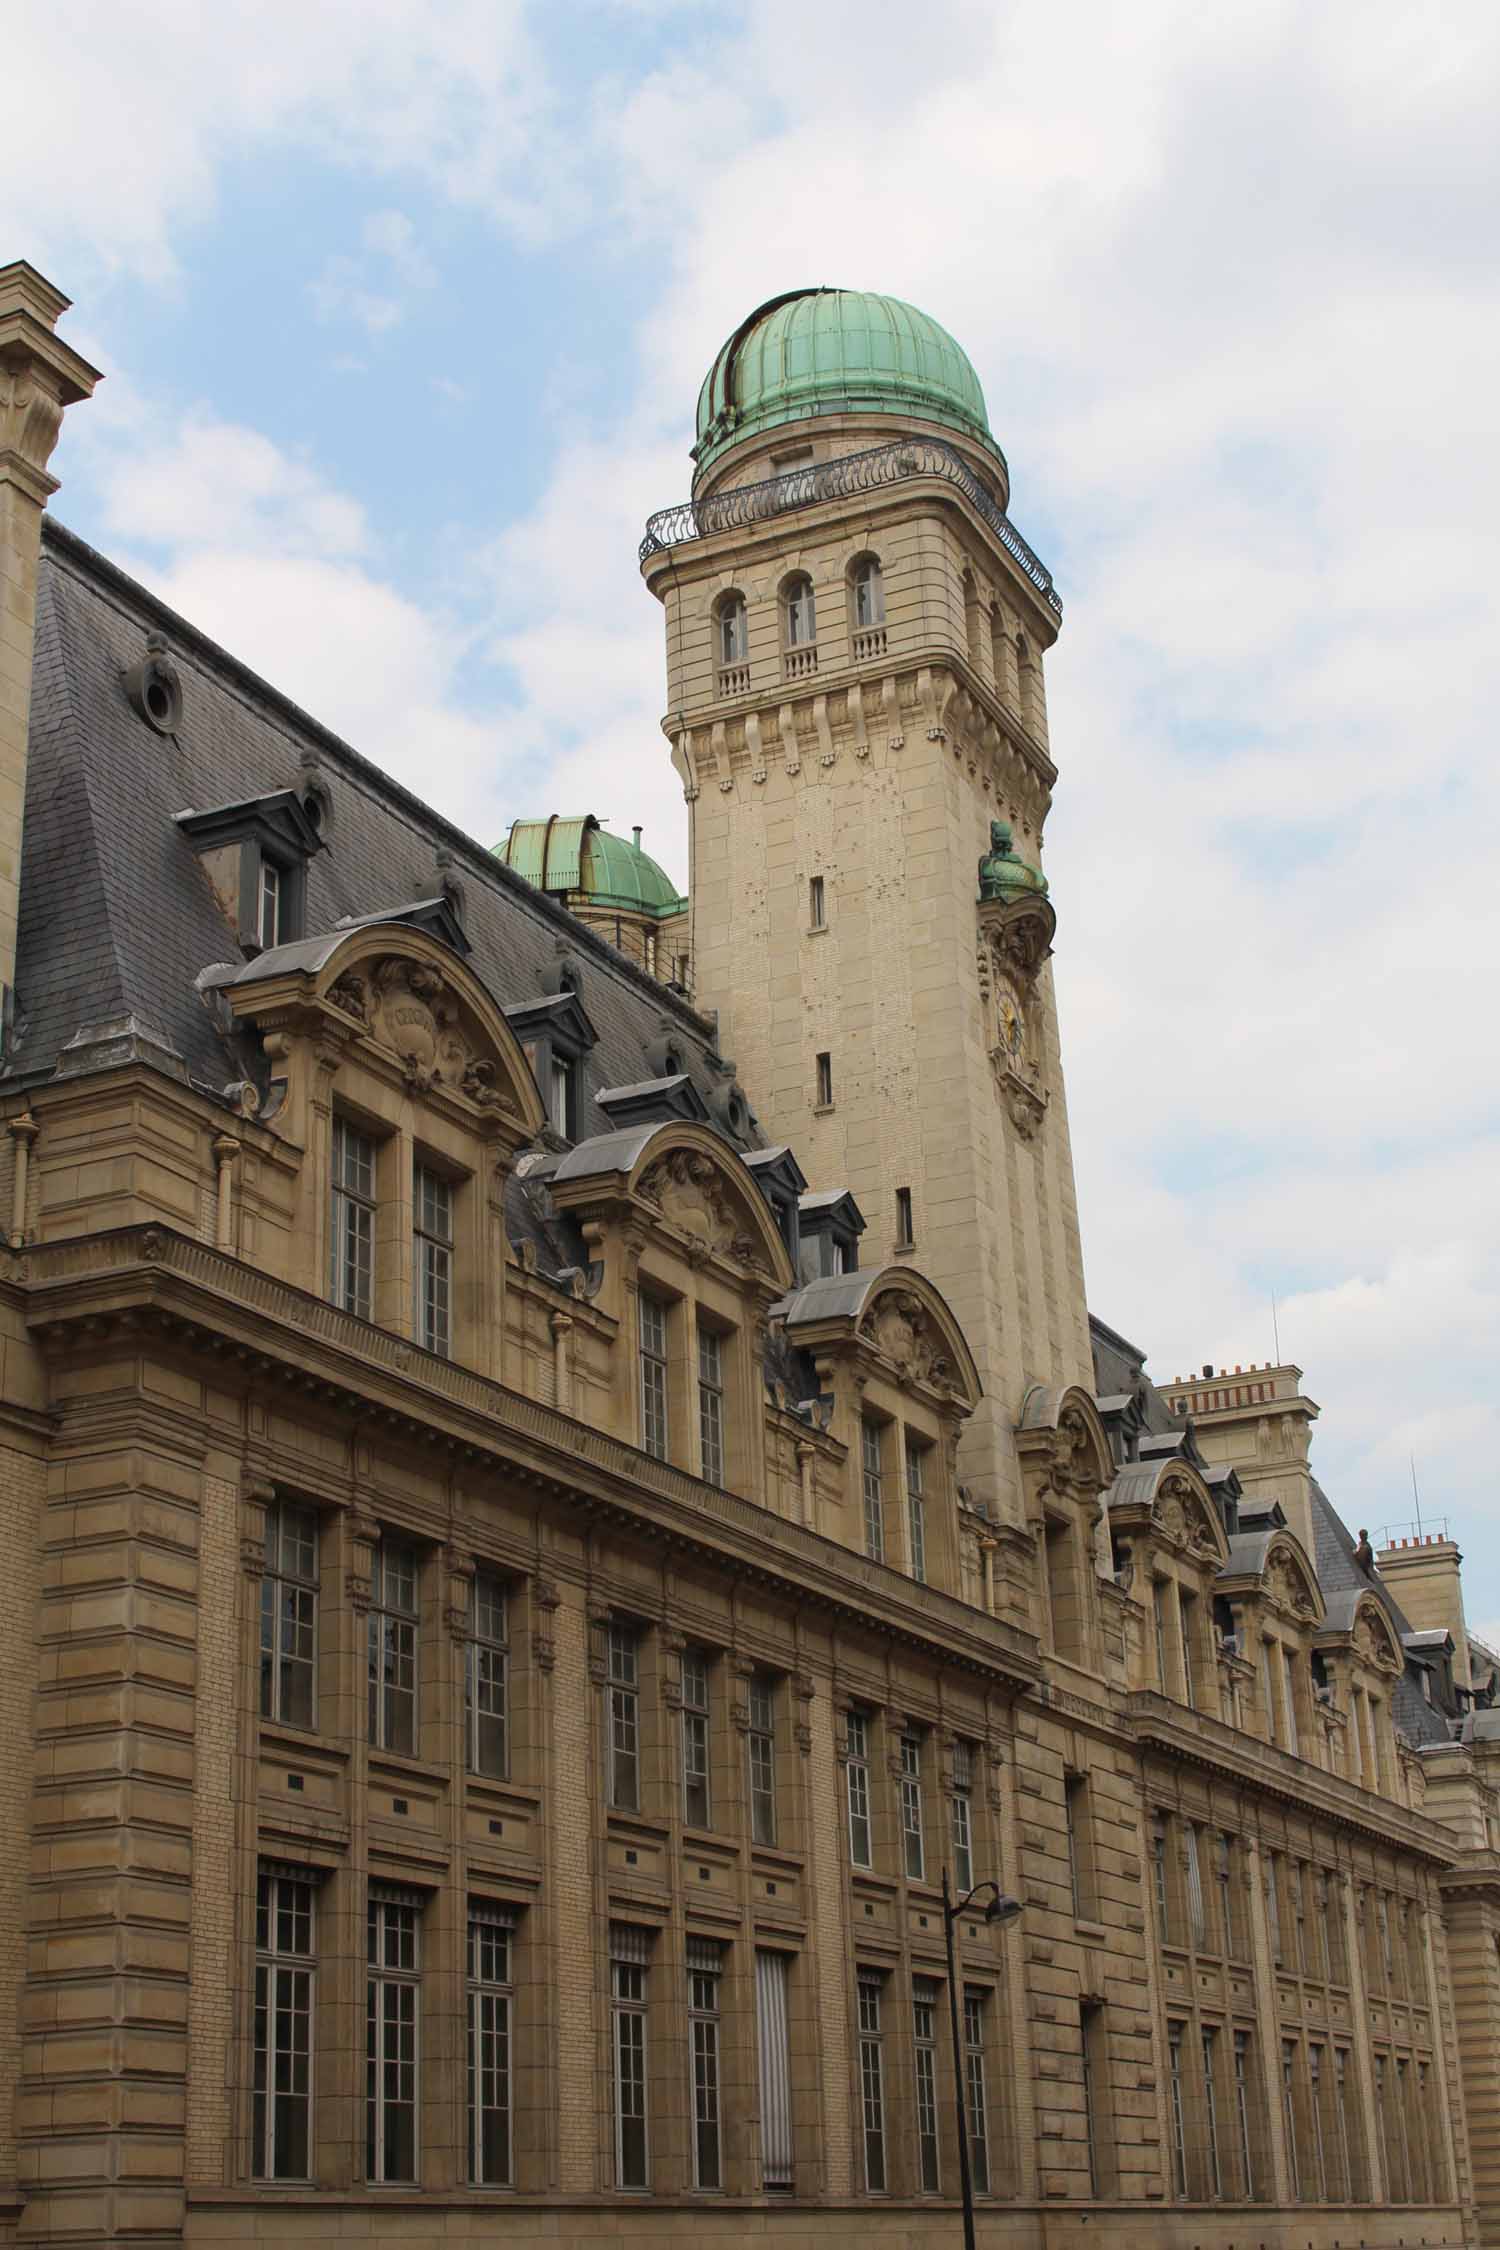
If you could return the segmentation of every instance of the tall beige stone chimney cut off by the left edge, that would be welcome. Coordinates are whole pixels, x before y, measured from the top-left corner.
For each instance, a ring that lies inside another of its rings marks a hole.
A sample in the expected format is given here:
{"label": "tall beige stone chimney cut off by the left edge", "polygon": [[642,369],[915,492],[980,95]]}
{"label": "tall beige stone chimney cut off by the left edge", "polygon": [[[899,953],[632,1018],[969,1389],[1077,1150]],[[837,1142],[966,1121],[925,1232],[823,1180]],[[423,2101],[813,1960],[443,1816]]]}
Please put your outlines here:
{"label": "tall beige stone chimney cut off by the left edge", "polygon": [[99,382],[99,369],[52,333],[65,310],[67,297],[25,259],[0,266],[0,1048],[16,983],[36,572],[43,508],[56,493],[47,459],[63,410]]}

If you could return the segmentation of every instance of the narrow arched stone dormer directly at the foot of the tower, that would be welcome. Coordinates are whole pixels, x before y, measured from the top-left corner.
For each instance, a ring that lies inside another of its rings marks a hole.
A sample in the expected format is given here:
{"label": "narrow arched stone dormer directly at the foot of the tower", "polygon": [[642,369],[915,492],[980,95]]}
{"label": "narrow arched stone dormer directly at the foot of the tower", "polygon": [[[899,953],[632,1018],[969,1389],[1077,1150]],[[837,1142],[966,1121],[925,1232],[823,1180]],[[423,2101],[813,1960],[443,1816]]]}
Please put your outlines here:
{"label": "narrow arched stone dormer directly at the foot of the tower", "polygon": [[1025,1582],[1012,1586],[1023,1616],[1043,1620],[1055,1656],[1088,1672],[1102,1667],[1104,1638],[1095,1532],[1113,1476],[1100,1408],[1077,1384],[1032,1384],[1021,1400],[1016,1454],[1025,1494]]}

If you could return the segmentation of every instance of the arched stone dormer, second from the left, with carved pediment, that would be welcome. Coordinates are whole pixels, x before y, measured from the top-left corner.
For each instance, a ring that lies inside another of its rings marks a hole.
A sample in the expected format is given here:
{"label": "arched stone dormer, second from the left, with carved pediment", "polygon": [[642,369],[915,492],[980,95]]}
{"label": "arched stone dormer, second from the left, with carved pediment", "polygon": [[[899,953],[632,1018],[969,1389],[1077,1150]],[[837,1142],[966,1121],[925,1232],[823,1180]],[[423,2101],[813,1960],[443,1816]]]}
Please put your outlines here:
{"label": "arched stone dormer, second from the left, with carved pediment", "polygon": [[767,1498],[765,1325],[792,1285],[771,1206],[708,1125],[623,1127],[551,1172],[616,1328],[614,1415],[643,1454]]}

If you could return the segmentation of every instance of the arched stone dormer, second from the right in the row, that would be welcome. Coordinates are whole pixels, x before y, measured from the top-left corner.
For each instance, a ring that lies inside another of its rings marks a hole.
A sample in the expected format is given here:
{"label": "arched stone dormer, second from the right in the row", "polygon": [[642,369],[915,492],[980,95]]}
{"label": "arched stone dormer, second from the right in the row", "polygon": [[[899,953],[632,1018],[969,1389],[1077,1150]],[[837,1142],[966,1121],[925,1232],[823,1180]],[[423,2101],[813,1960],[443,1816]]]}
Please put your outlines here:
{"label": "arched stone dormer, second from the right in the row", "polygon": [[1311,1676],[1311,1640],[1325,1618],[1318,1573],[1280,1523],[1239,1532],[1228,1548],[1214,1593],[1230,1606],[1250,1667],[1239,1721],[1293,1757],[1325,1762]]}

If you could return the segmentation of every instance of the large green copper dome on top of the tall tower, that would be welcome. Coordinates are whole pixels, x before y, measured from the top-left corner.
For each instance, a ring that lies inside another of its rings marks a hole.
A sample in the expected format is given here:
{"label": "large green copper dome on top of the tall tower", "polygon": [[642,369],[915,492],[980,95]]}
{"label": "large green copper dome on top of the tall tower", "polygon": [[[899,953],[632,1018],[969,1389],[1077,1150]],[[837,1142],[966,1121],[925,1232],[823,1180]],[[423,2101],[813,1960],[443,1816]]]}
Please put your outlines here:
{"label": "large green copper dome on top of the tall tower", "polygon": [[805,288],[762,304],[704,378],[693,459],[704,470],[740,439],[812,414],[947,423],[1001,457],[969,360],[900,297]]}

